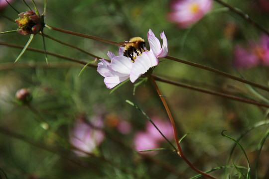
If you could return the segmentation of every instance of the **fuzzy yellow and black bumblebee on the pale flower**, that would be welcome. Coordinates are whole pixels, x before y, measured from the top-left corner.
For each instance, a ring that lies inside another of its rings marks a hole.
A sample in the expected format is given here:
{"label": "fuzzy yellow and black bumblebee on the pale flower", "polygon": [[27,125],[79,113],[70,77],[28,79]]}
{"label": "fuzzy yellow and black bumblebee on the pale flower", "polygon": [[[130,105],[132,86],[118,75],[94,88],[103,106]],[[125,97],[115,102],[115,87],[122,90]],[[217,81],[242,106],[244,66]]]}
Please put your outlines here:
{"label": "fuzzy yellow and black bumblebee on the pale flower", "polygon": [[118,43],[119,46],[125,46],[123,55],[131,58],[132,62],[136,56],[145,51],[145,41],[141,37],[133,37],[129,42]]}

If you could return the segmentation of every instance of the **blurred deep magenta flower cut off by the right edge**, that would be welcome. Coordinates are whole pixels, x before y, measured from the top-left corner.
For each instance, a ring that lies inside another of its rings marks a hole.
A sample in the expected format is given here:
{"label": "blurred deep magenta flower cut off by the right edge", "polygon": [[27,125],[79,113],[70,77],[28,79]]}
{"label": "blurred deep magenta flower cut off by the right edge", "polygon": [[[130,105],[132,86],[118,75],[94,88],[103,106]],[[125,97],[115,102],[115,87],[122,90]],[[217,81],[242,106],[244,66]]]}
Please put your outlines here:
{"label": "blurred deep magenta flower cut off by the right edge", "polygon": [[236,46],[233,64],[238,69],[269,66],[269,37],[262,35],[259,42],[250,42],[247,47]]}

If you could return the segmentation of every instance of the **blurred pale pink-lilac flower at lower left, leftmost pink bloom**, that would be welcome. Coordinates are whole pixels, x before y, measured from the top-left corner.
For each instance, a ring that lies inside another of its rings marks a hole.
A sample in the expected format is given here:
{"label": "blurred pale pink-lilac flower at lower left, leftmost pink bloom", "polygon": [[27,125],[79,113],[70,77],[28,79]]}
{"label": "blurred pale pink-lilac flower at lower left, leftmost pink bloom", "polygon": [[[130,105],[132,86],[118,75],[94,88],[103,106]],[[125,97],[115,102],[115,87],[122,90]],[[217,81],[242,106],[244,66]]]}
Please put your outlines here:
{"label": "blurred pale pink-lilac flower at lower left, leftmost pink bloom", "polygon": [[100,130],[102,127],[103,119],[98,117],[91,119],[91,125],[83,120],[78,120],[74,124],[70,134],[70,142],[75,148],[79,149],[74,150],[76,155],[86,157],[88,155],[84,152],[92,153],[103,142],[105,134]]}

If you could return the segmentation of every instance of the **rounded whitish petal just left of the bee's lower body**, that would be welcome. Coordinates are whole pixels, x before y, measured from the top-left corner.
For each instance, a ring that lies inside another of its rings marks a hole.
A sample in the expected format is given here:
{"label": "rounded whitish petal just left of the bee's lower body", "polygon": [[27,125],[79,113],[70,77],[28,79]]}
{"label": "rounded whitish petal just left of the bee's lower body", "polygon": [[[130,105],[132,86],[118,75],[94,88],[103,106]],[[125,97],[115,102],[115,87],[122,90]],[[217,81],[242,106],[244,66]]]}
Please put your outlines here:
{"label": "rounded whitish petal just left of the bee's lower body", "polygon": [[133,62],[125,56],[117,56],[111,60],[111,69],[121,74],[130,74]]}

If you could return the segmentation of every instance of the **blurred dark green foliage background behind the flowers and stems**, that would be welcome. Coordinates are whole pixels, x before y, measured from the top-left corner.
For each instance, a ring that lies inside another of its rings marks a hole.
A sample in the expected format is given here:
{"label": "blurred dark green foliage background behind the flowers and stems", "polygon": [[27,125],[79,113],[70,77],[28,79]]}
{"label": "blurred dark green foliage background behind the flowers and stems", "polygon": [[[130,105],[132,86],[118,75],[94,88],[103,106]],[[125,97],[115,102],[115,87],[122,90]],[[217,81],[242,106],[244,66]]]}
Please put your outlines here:
{"label": "blurred dark green foliage background behind the flowers and stems", "polygon": [[[269,27],[269,12],[255,7],[255,1],[226,2],[248,13],[265,28]],[[32,7],[31,2],[28,3]],[[42,13],[43,1],[36,0],[36,3]],[[22,0],[14,0],[12,5],[18,11],[28,10]],[[17,18],[10,7],[0,12],[11,19]],[[164,31],[168,39],[168,55],[235,76],[232,66],[234,46],[257,40],[262,34],[216,2],[203,19],[188,29],[178,29],[170,23],[166,18],[167,12],[168,0],[48,0],[45,23],[115,42],[124,42],[134,36],[146,39],[148,29],[159,38],[159,33]],[[235,27],[235,32],[229,32],[231,26]],[[0,31],[16,28],[15,23],[0,16]],[[108,51],[118,54],[118,47],[110,44],[47,28],[44,28],[44,33],[101,58],[107,58]],[[18,33],[0,35],[1,42],[22,46],[28,38]],[[95,59],[47,38],[45,43],[48,52],[86,63]],[[34,36],[30,47],[43,50],[41,35]],[[125,100],[133,101],[149,116],[168,120],[149,81],[137,87],[135,95],[131,82],[110,94],[95,68],[86,68],[78,77],[83,65],[48,56],[48,67],[43,54],[31,51],[26,51],[17,64],[12,65],[20,51],[0,46],[0,169],[8,179],[185,179],[197,175],[175,153],[160,151],[156,155],[140,155],[132,149],[134,134],[143,130],[146,118]],[[242,83],[168,59],[160,61],[153,73],[157,76],[256,99]],[[240,73],[251,82],[268,86],[268,67],[255,67]],[[226,134],[236,139],[248,128],[266,119],[266,109],[262,107],[169,84],[158,85],[176,120],[179,137],[192,132],[181,142],[182,150],[202,171],[232,165],[226,162],[234,143],[221,136],[222,130],[226,129]],[[31,91],[31,106],[38,115],[27,106],[13,102],[15,92],[20,88]],[[268,92],[257,90],[269,97]],[[106,139],[99,146],[98,155],[78,158],[64,141],[57,140],[54,132],[68,141],[72,125],[81,115],[90,118],[97,114],[104,117]],[[130,122],[132,131],[127,135],[120,134],[107,122],[112,115]],[[49,124],[50,130],[42,128],[38,116]],[[259,142],[267,130],[268,125],[257,127],[240,141],[253,170]],[[268,145],[266,141],[261,153],[259,179],[269,178]],[[170,148],[166,143],[162,147]],[[232,160],[238,166],[247,167],[239,148],[236,148]],[[212,173],[222,179],[228,175],[231,179],[238,179],[237,174],[239,172],[235,168],[227,169],[227,173],[224,169]],[[252,178],[254,176],[255,172]],[[0,177],[5,179],[1,174]]]}

